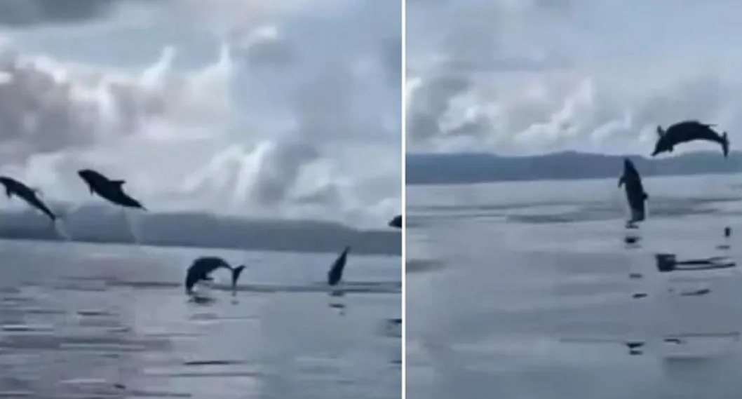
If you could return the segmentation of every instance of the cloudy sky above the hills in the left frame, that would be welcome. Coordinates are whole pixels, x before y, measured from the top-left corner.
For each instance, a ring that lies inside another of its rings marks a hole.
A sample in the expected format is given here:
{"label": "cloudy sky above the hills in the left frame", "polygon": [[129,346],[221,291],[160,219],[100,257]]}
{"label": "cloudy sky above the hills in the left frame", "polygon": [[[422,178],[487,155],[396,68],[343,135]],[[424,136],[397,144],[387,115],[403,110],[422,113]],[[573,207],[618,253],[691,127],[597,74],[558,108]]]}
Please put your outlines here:
{"label": "cloudy sky above the hills in the left frame", "polygon": [[93,168],[154,212],[378,227],[400,211],[395,1],[4,1],[0,15],[0,174],[46,200],[97,201],[75,174]]}

